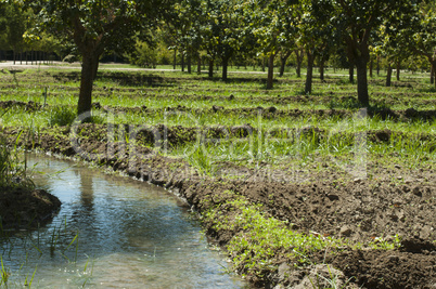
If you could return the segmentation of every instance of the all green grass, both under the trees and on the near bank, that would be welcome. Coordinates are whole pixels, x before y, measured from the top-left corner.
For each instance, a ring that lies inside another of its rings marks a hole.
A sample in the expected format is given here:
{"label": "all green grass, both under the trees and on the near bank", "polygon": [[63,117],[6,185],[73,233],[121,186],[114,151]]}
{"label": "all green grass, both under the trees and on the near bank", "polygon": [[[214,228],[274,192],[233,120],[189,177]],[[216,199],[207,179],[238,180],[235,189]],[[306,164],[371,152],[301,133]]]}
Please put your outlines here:
{"label": "all green grass, both under the trees and on the near bank", "polygon": [[[115,65],[105,67],[114,68]],[[180,71],[101,70],[93,102],[118,111],[106,115],[100,109],[94,116],[104,126],[107,122],[132,128],[165,124],[176,134],[176,140],[182,141],[169,143],[168,149],[158,154],[183,159],[200,174],[223,180],[246,178],[231,173],[218,175],[220,169],[229,163],[249,170],[272,169],[284,174],[307,168],[313,172],[333,169],[346,173],[350,167],[361,166],[368,171],[369,180],[379,178],[377,169],[390,168],[393,163],[410,170],[435,168],[435,118],[406,118],[400,111],[411,107],[436,109],[436,95],[427,79],[416,78],[426,75],[402,74],[402,80],[394,81],[397,86],[392,88],[383,87],[383,76],[370,79],[372,109],[392,109],[401,116],[359,118],[356,117],[359,109],[356,86],[348,83],[345,70],[330,70],[329,74],[325,83],[315,80],[312,95],[304,95],[304,79],[292,73],[278,77],[273,90],[265,90],[265,76],[247,74],[243,68],[233,69],[227,82]],[[0,83],[3,83],[0,84],[1,101],[43,104],[42,92],[48,88],[48,105],[34,110],[26,110],[23,105],[0,108],[3,126],[34,128],[36,134],[44,131],[56,135],[64,130],[60,127],[74,122],[78,70],[25,70],[14,74],[14,77],[16,81],[12,83],[15,84],[9,84],[13,76],[0,75]],[[213,106],[218,109],[213,109]],[[258,114],[259,106],[266,110],[274,107],[279,111]],[[141,109],[133,110],[133,107]],[[332,109],[345,113],[326,113]],[[232,132],[232,128],[238,126],[248,127],[249,133]],[[214,136],[213,128],[219,128],[221,137]],[[187,136],[189,131],[194,133]],[[388,140],[376,139],[376,134],[383,131],[390,132]],[[118,141],[133,143],[128,134],[123,137]],[[155,147],[153,142],[141,145]],[[324,165],[329,168],[325,169]],[[338,186],[346,181],[341,178]],[[396,184],[400,182],[393,180]],[[291,223],[269,215],[261,205],[252,203],[234,192],[227,194],[232,196],[231,200],[222,199],[219,205],[210,207],[203,214],[203,222],[217,232],[236,232],[227,249],[235,270],[246,276],[267,278],[277,270],[278,255],[293,260],[294,266],[300,267],[312,264],[311,254],[317,251],[342,248],[390,250],[400,244],[398,236],[393,241],[380,236],[373,241],[358,244],[344,238],[298,233]],[[53,246],[59,242],[57,236],[59,233],[53,231]],[[75,241],[76,238],[66,249]],[[332,287],[336,277],[330,276]]]}

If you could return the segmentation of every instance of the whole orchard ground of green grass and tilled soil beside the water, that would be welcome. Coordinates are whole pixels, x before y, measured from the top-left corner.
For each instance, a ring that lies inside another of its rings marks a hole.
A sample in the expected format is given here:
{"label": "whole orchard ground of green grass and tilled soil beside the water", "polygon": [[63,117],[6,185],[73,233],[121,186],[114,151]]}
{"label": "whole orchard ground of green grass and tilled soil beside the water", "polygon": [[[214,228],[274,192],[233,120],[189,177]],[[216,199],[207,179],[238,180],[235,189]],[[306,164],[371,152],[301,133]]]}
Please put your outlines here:
{"label": "whole orchard ground of green grass and tilled soil beside the water", "polygon": [[[370,78],[371,107],[362,109],[346,70],[328,70],[305,95],[304,79],[292,71],[266,90],[264,74],[242,68],[230,69],[223,82],[111,70],[116,67],[99,73],[93,114],[100,127],[87,127],[94,130],[89,134],[79,129],[80,137],[107,142],[105,128],[113,126],[116,142],[155,152],[165,168],[187,163],[194,173],[182,178],[181,191],[236,272],[254,284],[290,285],[271,276],[284,263],[307,273],[326,262],[317,254],[328,250],[397,250],[401,239],[416,236],[435,245],[427,226],[435,226],[436,92],[426,74],[402,71],[390,88],[383,75]],[[79,70],[3,70],[1,124],[62,139],[75,119],[78,90]],[[129,133],[121,132],[126,127]],[[196,198],[190,197],[193,183],[201,184]],[[347,272],[344,262],[330,264],[359,286],[383,285]],[[405,285],[396,281],[386,283]]]}

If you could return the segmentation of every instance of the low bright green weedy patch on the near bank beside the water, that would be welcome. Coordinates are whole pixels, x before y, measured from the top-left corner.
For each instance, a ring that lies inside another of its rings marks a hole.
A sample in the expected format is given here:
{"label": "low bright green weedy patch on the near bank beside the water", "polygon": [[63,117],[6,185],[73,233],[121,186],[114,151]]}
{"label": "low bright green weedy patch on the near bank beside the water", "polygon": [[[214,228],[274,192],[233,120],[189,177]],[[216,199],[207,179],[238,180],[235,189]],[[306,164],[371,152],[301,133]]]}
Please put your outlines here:
{"label": "low bright green weedy patch on the near bank beside the water", "polygon": [[[233,192],[226,193],[235,195]],[[269,216],[261,205],[253,205],[243,196],[225,199],[226,196],[222,202],[210,208],[203,221],[216,232],[236,232],[227,250],[234,268],[242,276],[268,278],[266,274],[274,272],[281,262],[278,258],[293,260],[294,267],[304,267],[316,264],[311,254],[318,251],[341,251],[345,248],[392,250],[400,246],[398,236],[390,242],[381,238],[369,244],[352,244],[344,238],[298,233],[292,229],[293,224]],[[214,201],[217,202],[216,197]],[[334,279],[332,276],[332,281]]]}

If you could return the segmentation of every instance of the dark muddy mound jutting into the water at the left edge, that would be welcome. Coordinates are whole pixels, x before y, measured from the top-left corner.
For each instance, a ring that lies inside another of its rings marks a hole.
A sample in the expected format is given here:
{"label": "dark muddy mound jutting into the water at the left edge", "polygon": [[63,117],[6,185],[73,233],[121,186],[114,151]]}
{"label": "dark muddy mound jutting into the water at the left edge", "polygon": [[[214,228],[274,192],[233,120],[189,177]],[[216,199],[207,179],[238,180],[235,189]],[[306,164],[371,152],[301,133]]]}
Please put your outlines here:
{"label": "dark muddy mound jutting into the water at the left edge", "polygon": [[0,187],[0,216],[4,229],[38,228],[50,222],[60,207],[61,201],[43,189]]}

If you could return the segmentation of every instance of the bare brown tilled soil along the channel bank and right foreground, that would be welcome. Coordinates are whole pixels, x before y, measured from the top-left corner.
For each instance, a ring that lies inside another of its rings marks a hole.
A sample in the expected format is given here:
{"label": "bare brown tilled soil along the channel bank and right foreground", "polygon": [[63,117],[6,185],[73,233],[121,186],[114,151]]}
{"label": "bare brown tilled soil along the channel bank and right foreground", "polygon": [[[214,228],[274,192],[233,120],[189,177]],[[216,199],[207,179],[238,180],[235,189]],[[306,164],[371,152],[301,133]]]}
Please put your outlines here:
{"label": "bare brown tilled soil along the channel bank and right foreground", "polygon": [[[21,145],[74,156],[77,149],[72,146],[70,132],[69,128],[44,129],[33,142],[22,140]],[[331,264],[339,270],[344,278],[350,280],[349,286],[436,286],[434,166],[411,170],[372,162],[368,165],[371,179],[355,179],[329,163],[322,170],[291,168],[288,171],[222,163],[221,174],[201,176],[185,161],[154,154],[150,148],[137,146],[131,152],[123,142],[107,145],[106,132],[103,126],[81,124],[73,139],[79,140],[76,143],[80,147],[78,155],[170,188],[200,212],[222,203],[229,199],[229,194],[225,192],[232,191],[253,203],[261,203],[267,214],[287,220],[293,229],[306,234],[344,237],[367,244],[394,240],[395,235],[402,237],[399,250],[344,249],[311,255],[313,262]],[[170,142],[183,143],[192,137],[187,132],[171,132]],[[16,130],[7,129],[4,133],[12,136]],[[371,135],[370,142],[388,142],[390,132],[372,132]],[[133,153],[137,153],[136,159]],[[220,246],[226,246],[238,233],[217,232],[208,223],[204,226],[209,237]],[[258,276],[247,278],[261,287],[277,284],[296,287],[304,284],[309,268],[295,270],[292,264],[292,260],[278,258],[279,270],[271,272],[267,279],[259,279]],[[290,274],[283,274],[283,271]]]}

